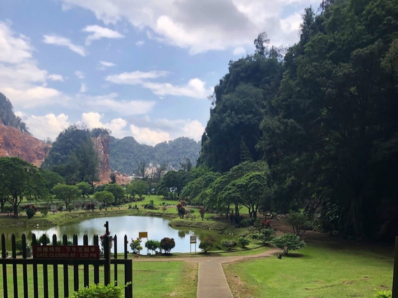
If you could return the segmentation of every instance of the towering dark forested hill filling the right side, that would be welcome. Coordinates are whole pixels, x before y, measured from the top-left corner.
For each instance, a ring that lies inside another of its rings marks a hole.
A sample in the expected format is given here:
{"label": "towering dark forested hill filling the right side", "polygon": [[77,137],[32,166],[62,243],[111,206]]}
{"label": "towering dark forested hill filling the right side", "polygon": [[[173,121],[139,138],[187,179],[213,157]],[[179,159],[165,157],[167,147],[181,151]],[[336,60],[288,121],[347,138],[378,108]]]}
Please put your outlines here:
{"label": "towering dark forested hill filling the right side", "polygon": [[[266,34],[215,87],[199,163],[270,167],[273,208],[305,210],[320,230],[398,232],[398,2],[326,0],[300,41]],[[283,55],[284,54],[284,55]]]}

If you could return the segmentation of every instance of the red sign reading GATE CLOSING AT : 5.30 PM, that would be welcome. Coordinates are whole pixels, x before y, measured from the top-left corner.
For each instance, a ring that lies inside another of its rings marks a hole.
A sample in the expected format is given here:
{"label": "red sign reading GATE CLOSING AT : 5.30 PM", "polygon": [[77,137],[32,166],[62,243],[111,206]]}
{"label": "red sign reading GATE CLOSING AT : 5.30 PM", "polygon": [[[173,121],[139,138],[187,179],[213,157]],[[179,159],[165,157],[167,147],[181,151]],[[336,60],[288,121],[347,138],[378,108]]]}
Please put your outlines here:
{"label": "red sign reading GATE CLOSING AT : 5.30 PM", "polygon": [[99,259],[98,245],[33,245],[34,259]]}

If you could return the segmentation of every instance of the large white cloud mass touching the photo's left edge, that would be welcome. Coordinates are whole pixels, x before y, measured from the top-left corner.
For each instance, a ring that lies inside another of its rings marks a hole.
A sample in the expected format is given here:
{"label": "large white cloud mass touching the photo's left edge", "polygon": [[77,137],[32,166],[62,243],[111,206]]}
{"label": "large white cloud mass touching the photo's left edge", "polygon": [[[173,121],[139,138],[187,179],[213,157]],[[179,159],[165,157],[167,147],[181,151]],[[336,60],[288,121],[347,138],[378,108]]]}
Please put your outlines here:
{"label": "large white cloud mass touching the photo's left edge", "polygon": [[29,39],[11,29],[11,24],[0,21],[0,90],[16,108],[52,104],[68,98],[57,89],[47,87],[47,80],[61,81],[61,75],[48,74],[33,59],[34,48]]}

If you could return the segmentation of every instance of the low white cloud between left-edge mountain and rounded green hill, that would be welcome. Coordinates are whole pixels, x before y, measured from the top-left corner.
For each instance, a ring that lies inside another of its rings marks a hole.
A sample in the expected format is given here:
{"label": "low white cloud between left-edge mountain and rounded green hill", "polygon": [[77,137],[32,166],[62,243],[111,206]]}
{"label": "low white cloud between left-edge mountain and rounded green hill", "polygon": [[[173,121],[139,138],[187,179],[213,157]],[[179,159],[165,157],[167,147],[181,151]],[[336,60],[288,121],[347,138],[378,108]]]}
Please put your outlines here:
{"label": "low white cloud between left-edge mountain and rounded green hill", "polygon": [[27,116],[22,112],[16,112],[15,114],[20,116],[23,122],[27,124],[29,131],[34,137],[42,140],[47,137],[54,140],[60,132],[68,128],[70,125],[68,116],[63,113],[58,116],[55,116],[55,114],[47,114],[45,116]]}

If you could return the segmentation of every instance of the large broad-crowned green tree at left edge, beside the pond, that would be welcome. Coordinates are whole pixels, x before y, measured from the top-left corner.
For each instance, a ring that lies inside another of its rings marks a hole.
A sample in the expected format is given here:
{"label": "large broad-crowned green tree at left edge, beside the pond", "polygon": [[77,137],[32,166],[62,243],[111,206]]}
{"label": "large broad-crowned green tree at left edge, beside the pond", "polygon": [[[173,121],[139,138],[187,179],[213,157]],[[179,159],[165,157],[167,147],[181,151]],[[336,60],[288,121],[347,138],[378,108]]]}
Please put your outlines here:
{"label": "large broad-crowned green tree at left edge, beside the pond", "polygon": [[19,157],[0,157],[0,190],[18,217],[24,197],[45,199],[48,191],[37,167]]}

